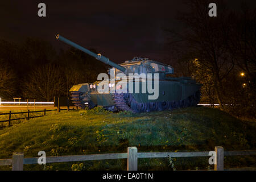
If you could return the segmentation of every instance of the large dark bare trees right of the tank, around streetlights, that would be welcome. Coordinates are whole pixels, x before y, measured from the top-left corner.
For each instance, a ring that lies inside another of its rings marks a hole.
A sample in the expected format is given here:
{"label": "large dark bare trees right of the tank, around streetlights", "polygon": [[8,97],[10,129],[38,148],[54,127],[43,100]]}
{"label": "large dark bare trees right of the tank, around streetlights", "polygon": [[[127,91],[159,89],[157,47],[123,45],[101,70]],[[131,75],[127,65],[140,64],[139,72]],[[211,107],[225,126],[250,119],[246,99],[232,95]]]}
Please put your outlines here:
{"label": "large dark bare trees right of the tank, around streetlights", "polygon": [[256,9],[242,4],[234,13],[217,1],[217,17],[209,17],[209,3],[187,1],[189,12],[179,17],[187,29],[167,30],[176,70],[183,76],[195,73],[204,101],[217,101],[237,117],[255,118]]}

